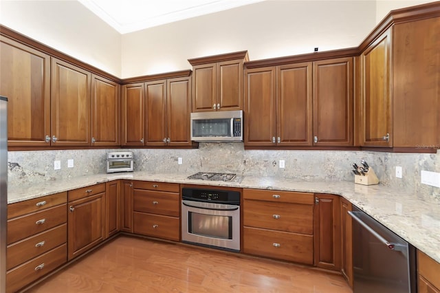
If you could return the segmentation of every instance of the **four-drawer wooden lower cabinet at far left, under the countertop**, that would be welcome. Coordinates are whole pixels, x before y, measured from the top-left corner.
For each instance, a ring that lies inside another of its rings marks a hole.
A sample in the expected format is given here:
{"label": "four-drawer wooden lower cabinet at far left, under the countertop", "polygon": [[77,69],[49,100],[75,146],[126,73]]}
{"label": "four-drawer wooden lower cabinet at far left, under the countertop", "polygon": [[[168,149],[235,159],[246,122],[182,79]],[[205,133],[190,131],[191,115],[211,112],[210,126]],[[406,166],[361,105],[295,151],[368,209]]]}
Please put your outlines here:
{"label": "four-drawer wooden lower cabinet at far left, under the countertop", "polygon": [[8,205],[6,292],[17,292],[67,261],[67,193]]}

